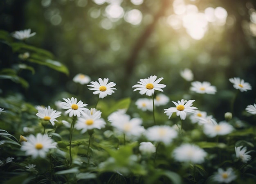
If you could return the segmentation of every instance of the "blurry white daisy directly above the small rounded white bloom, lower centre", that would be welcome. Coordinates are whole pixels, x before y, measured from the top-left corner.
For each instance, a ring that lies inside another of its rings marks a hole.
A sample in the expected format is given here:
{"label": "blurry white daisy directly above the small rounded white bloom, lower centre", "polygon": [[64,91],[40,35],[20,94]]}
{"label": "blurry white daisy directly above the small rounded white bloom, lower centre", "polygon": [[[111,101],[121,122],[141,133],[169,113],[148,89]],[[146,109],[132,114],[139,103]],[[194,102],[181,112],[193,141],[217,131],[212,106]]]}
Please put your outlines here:
{"label": "blurry white daisy directly above the small rounded white bloom, lower centre", "polygon": [[149,127],[146,130],[145,135],[148,140],[163,142],[168,145],[177,137],[178,133],[167,125],[155,125],[153,127]]}

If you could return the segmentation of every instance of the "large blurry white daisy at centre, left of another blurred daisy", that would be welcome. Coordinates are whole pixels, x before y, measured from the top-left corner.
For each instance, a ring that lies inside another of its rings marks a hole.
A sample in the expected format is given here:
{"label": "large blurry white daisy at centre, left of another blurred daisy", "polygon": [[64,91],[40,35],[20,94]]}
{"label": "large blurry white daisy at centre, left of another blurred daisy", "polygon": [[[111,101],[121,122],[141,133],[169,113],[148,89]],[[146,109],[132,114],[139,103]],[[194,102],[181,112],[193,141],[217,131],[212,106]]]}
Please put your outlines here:
{"label": "large blurry white daisy at centre, left of another blurred daisy", "polygon": [[128,114],[112,117],[111,119],[111,126],[115,127],[119,133],[124,133],[127,136],[141,136],[145,131],[141,124],[141,118],[130,118]]}

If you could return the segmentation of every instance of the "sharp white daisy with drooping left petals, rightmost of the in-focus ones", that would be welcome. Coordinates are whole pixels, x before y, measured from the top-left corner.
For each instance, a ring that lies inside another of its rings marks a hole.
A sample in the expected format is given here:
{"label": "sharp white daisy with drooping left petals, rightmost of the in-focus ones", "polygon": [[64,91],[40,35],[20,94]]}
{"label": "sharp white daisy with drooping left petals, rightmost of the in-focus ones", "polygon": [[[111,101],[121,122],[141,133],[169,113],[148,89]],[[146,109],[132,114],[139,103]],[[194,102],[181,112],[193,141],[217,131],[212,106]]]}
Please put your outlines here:
{"label": "sharp white daisy with drooping left petals, rightmost of the in-focus ones", "polygon": [[194,101],[195,100],[186,101],[184,99],[178,101],[178,103],[173,101],[176,107],[164,109],[164,113],[166,113],[166,115],[169,116],[169,118],[171,118],[173,112],[176,112],[177,116],[180,116],[180,119],[184,120],[186,119],[186,113],[193,113],[195,109],[198,109],[197,107],[191,107]]}

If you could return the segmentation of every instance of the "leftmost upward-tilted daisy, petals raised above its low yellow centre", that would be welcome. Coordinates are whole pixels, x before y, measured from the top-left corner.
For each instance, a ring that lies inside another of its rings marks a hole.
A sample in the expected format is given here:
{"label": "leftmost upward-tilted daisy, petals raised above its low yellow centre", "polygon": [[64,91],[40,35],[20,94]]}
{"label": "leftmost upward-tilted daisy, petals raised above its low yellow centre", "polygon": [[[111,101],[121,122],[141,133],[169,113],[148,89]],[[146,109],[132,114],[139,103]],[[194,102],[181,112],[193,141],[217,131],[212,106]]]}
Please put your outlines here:
{"label": "leftmost upward-tilted daisy, petals raised above its low yellow centre", "polygon": [[43,109],[39,109],[38,113],[36,113],[36,116],[45,121],[50,121],[50,123],[52,123],[52,126],[54,126],[54,121],[57,121],[56,118],[61,116],[61,112],[53,110],[50,106],[48,106]]}

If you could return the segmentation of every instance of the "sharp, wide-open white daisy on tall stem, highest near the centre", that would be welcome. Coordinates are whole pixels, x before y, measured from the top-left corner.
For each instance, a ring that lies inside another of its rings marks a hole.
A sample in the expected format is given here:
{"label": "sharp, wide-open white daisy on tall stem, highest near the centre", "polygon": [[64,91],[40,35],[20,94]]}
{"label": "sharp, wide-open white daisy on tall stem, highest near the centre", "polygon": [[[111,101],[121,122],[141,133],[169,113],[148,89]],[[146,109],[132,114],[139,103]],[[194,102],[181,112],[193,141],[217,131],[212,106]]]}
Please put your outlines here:
{"label": "sharp, wide-open white daisy on tall stem, highest near the centre", "polygon": [[140,79],[138,81],[139,84],[135,84],[132,86],[132,88],[136,88],[133,91],[139,91],[139,94],[145,94],[147,96],[152,96],[155,92],[155,90],[157,91],[162,91],[163,90],[161,88],[165,88],[166,85],[164,84],[159,84],[160,81],[162,81],[162,79],[164,79],[163,77],[157,79],[157,76],[150,76],[148,77],[148,79]]}

